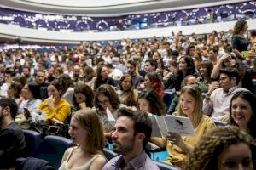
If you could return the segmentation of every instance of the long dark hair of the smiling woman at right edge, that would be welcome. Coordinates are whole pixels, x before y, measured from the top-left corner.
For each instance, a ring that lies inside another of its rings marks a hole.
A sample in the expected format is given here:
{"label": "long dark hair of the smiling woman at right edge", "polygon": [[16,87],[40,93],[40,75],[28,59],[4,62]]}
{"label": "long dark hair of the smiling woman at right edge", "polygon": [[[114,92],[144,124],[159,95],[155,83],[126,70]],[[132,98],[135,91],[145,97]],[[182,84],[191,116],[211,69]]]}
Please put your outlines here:
{"label": "long dark hair of the smiling woman at right edge", "polygon": [[236,98],[245,99],[251,105],[253,115],[251,116],[251,119],[248,122],[247,127],[248,127],[248,133],[250,133],[254,138],[256,138],[256,130],[254,129],[254,126],[256,124],[256,116],[255,116],[255,113],[256,113],[256,105],[255,105],[256,97],[250,91],[239,91],[239,92],[236,92],[236,94],[234,94],[233,97],[231,98],[231,102],[230,102],[230,117],[231,117],[231,119],[230,119],[230,122],[231,122],[231,124],[238,126],[236,124],[236,122],[234,121],[234,119],[232,118],[232,116],[231,116],[232,115],[232,101]]}

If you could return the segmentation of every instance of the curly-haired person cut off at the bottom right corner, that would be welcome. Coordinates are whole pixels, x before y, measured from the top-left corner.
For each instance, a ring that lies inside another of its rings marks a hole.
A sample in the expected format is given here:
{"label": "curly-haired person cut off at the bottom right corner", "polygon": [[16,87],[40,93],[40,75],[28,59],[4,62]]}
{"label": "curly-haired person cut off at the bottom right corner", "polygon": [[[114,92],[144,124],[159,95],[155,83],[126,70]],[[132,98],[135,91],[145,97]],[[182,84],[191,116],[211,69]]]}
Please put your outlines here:
{"label": "curly-haired person cut off at the bottom right corner", "polygon": [[183,169],[253,170],[255,151],[255,142],[250,135],[235,126],[220,126],[201,138]]}

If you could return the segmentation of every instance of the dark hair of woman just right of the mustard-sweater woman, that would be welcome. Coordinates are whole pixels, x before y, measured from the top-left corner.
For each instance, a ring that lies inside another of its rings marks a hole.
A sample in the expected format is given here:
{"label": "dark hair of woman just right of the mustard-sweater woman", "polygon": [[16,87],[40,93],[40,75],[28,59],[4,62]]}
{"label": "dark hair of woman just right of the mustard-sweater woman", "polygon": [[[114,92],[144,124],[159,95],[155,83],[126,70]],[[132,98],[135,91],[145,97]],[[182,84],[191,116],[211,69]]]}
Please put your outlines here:
{"label": "dark hair of woman just right of the mustard-sweater woman", "polygon": [[75,95],[74,94],[84,94],[85,96],[85,104],[86,107],[93,107],[93,99],[94,99],[94,94],[92,89],[90,88],[90,86],[88,86],[87,84],[81,84],[79,86],[76,86],[74,88],[73,91],[73,105],[77,108],[79,108],[79,104],[75,99]]}

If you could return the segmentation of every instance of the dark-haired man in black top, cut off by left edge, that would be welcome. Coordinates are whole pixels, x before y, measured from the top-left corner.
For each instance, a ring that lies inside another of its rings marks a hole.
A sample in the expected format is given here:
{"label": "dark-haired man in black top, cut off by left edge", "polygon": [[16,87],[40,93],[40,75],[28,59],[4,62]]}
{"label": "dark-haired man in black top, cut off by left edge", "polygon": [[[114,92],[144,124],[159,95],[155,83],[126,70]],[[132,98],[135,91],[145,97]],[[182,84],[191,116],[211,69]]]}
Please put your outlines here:
{"label": "dark-haired man in black top, cut off by left edge", "polygon": [[16,124],[18,105],[14,99],[0,99],[0,169],[12,169],[18,157],[24,156],[25,137]]}

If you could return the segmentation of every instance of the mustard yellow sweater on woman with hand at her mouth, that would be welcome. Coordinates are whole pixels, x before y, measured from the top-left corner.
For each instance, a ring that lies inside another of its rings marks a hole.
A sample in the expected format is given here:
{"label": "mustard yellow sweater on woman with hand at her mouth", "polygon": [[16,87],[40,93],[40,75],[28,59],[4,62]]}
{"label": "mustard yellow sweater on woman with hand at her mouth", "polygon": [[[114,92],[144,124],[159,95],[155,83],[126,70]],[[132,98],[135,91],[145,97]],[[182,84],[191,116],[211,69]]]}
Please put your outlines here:
{"label": "mustard yellow sweater on woman with hand at her mouth", "polygon": [[47,114],[46,119],[55,118],[60,122],[65,122],[67,117],[71,114],[70,105],[65,99],[61,99],[60,102],[55,105],[55,108],[53,110],[49,109],[47,101],[44,100],[44,102],[42,102],[41,105],[38,106],[38,109]]}

